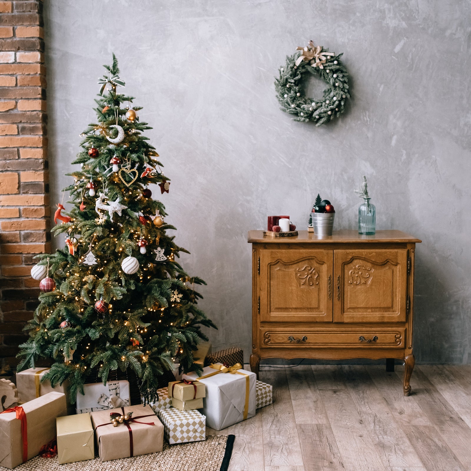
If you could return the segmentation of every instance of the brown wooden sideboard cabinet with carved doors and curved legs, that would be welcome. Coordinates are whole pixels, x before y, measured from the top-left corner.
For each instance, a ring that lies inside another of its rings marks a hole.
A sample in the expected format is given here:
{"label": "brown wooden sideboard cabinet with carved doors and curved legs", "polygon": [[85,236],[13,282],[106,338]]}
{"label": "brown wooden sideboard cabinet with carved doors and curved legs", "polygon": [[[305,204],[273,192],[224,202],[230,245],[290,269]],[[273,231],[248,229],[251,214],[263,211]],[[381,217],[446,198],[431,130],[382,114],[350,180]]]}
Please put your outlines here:
{"label": "brown wooden sideboard cabinet with carved doors and curved legs", "polygon": [[414,252],[404,232],[264,236],[252,244],[252,371],[263,358],[386,358],[414,368]]}

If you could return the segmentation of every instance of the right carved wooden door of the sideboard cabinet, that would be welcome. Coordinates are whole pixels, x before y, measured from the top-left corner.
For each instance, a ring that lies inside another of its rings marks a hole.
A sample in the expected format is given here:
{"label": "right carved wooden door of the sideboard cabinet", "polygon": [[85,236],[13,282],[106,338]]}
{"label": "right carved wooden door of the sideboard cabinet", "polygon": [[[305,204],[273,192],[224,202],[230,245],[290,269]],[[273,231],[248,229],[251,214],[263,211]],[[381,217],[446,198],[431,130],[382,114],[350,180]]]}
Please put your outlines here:
{"label": "right carved wooden door of the sideboard cabinet", "polygon": [[407,250],[335,250],[334,322],[405,322]]}

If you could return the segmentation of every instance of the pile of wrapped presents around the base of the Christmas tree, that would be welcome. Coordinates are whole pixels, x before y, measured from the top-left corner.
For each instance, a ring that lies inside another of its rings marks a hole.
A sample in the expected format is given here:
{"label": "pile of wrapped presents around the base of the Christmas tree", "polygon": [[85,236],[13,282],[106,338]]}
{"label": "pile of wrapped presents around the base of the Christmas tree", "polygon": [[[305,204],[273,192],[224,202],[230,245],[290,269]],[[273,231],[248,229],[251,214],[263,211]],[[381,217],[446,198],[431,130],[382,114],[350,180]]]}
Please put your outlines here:
{"label": "pile of wrapped presents around the base of the Christmas tree", "polygon": [[93,459],[95,444],[102,461],[158,453],[164,438],[169,444],[205,440],[206,425],[221,430],[272,403],[272,387],[244,370],[241,349],[205,355],[203,364],[201,376],[183,374],[146,406],[130,404],[124,380],[86,384],[73,405],[66,383],[51,388],[41,381],[47,369],[18,373],[16,402],[0,413],[0,466],[13,469],[55,451],[56,437],[60,464]]}

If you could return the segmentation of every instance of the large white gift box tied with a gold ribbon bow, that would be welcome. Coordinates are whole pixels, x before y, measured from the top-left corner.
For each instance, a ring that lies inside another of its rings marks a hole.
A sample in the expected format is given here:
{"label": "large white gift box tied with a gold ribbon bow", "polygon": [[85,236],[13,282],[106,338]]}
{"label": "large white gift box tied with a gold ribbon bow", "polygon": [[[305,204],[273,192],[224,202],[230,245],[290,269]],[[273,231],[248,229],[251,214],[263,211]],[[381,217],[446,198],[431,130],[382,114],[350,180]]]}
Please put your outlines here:
{"label": "large white gift box tied with a gold ribbon bow", "polygon": [[195,372],[183,375],[189,380],[198,379],[206,386],[202,411],[206,416],[206,423],[212,429],[221,430],[253,417],[256,404],[256,375],[242,369],[240,364],[230,368],[234,373],[229,373],[228,368],[223,365],[213,366],[219,369],[207,366],[203,368],[200,378]]}

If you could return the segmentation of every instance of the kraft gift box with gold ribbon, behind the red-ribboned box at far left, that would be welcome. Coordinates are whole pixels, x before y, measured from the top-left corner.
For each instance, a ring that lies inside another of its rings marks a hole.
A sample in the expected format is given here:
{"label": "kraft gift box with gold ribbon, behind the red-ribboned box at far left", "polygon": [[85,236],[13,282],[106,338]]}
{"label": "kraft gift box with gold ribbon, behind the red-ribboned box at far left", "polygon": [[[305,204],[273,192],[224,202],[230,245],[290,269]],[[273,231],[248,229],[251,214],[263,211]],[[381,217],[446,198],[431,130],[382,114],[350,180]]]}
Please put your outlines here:
{"label": "kraft gift box with gold ribbon, behind the red-ribboned box at far left", "polygon": [[68,382],[65,381],[56,384],[54,388],[49,381],[41,383],[41,378],[49,371],[50,368],[29,368],[16,373],[16,389],[18,390],[18,400],[21,403],[32,401],[33,399],[44,396],[48,392],[56,391],[65,394],[65,401],[69,414],[73,414],[75,406],[70,403]]}

